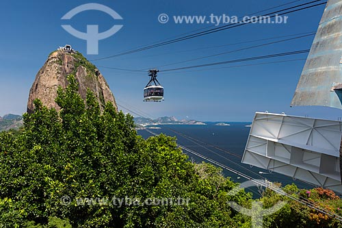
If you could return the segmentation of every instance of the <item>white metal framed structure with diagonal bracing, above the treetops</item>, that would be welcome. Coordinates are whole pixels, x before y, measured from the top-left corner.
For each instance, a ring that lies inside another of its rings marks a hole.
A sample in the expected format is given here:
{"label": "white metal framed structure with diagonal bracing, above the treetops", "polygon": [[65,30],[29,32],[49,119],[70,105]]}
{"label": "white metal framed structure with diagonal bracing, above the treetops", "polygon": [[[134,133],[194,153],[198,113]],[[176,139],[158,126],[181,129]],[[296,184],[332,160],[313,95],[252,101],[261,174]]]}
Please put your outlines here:
{"label": "white metal framed structure with diagonal bracing, above the treetops", "polygon": [[342,123],[257,112],[242,163],[342,193]]}

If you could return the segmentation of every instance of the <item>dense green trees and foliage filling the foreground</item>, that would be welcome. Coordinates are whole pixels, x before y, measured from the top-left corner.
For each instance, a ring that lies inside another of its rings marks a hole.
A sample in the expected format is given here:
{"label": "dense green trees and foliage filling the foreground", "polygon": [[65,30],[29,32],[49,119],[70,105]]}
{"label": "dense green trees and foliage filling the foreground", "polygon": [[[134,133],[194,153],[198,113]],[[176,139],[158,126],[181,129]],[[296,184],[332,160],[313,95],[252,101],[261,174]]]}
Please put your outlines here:
{"label": "dense green trees and foliage filling the foreground", "polygon": [[[132,116],[111,103],[101,114],[92,92],[85,104],[75,77],[68,80],[58,89],[60,112],[36,100],[23,131],[0,133],[0,227],[251,227],[250,217],[227,203],[250,207],[251,194],[229,196],[237,184],[218,168],[189,162],[175,138],[137,136]],[[332,192],[284,190],[342,215]],[[179,197],[188,203],[142,203]],[[280,200],[287,199],[269,190],[257,199],[264,207]],[[264,220],[264,227],[341,225],[295,201]]]}

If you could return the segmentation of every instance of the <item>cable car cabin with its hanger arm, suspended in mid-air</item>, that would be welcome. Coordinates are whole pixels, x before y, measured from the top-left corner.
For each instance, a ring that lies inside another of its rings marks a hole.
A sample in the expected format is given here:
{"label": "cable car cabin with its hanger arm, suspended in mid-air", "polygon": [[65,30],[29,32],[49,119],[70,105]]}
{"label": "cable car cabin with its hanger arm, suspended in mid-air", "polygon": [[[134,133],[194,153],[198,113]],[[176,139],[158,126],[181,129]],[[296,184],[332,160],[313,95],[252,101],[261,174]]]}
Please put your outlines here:
{"label": "cable car cabin with its hanger arm, suspended in mid-air", "polygon": [[157,80],[157,69],[151,69],[148,71],[150,81],[144,88],[144,101],[161,102],[164,100],[164,88]]}

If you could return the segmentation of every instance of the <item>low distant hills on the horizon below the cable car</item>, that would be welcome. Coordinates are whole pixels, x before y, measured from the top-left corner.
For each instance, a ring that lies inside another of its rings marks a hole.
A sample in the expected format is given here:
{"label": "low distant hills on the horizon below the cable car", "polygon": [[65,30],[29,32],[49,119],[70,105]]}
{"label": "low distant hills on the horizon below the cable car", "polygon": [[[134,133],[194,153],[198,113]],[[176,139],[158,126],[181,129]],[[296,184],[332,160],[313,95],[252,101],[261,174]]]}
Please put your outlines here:
{"label": "low distant hills on the horizon below the cable car", "polygon": [[140,125],[142,127],[150,125],[206,125],[206,123],[202,123],[200,121],[177,120],[174,116],[164,116],[154,120],[152,118],[134,117],[134,122],[136,125]]}

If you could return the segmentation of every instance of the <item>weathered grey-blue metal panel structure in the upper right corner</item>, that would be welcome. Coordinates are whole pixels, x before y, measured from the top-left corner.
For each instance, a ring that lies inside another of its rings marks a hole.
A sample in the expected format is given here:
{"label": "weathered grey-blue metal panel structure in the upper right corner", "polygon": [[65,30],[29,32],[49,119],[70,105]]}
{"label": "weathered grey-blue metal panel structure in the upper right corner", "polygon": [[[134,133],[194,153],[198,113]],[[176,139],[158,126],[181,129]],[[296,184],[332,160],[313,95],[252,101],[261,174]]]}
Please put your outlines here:
{"label": "weathered grey-blue metal panel structure in the upper right corner", "polygon": [[295,89],[291,106],[342,108],[342,0],[330,0]]}

